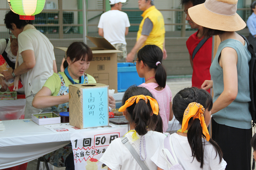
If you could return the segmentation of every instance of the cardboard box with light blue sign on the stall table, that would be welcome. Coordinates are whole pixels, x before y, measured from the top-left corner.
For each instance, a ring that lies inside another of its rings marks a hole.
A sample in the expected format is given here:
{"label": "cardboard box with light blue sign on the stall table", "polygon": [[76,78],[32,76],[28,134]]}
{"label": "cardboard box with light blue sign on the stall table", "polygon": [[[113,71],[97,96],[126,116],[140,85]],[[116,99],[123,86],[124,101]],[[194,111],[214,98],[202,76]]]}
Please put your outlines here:
{"label": "cardboard box with light blue sign on the stall table", "polygon": [[80,129],[109,126],[108,89],[100,83],[69,85],[69,124]]}

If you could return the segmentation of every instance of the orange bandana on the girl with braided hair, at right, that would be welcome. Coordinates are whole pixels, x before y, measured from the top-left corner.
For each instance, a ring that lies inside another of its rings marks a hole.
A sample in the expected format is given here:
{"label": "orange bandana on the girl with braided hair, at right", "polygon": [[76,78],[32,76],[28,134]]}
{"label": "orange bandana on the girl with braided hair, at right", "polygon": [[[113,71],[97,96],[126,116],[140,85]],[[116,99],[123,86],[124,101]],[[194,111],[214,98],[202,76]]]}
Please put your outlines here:
{"label": "orange bandana on the girl with braided hair, at right", "polygon": [[189,103],[183,115],[182,127],[181,127],[182,133],[187,129],[189,119],[193,117],[194,120],[195,119],[200,120],[203,134],[206,136],[206,140],[209,141],[210,135],[209,135],[207,126],[205,124],[204,112],[205,112],[205,108],[201,104],[197,102]]}

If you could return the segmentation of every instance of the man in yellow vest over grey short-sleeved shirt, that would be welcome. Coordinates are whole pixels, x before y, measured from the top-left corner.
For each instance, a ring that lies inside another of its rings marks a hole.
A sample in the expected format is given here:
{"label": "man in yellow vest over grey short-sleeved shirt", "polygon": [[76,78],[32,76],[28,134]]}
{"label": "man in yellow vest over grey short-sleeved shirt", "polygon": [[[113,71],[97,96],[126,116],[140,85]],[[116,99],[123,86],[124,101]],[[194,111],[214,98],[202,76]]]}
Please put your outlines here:
{"label": "man in yellow vest over grey short-sleeved shirt", "polygon": [[127,55],[126,61],[132,62],[137,51],[147,44],[154,44],[163,50],[163,58],[166,59],[165,50],[165,28],[163,15],[153,4],[153,0],[138,0],[139,9],[144,11],[137,41],[131,52]]}

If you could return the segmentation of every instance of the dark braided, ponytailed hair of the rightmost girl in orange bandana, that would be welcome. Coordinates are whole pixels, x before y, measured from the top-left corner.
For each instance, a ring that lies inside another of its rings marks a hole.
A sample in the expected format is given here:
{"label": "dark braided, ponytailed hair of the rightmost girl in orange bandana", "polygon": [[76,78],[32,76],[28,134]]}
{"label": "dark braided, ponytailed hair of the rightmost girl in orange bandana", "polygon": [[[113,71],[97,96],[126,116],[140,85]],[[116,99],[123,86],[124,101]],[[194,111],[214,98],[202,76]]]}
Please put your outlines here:
{"label": "dark braided, ponytailed hair of the rightmost girl in orange bandana", "polygon": [[[179,121],[180,125],[182,125],[184,111],[188,107],[188,104],[192,102],[200,103],[205,108],[205,110],[208,109],[208,111],[210,111],[212,109],[212,97],[206,90],[198,89],[196,87],[180,90],[173,98],[172,107],[173,114],[175,118]],[[199,119],[194,120],[193,117],[191,117],[188,124],[190,125],[190,128],[188,129],[187,138],[192,151],[193,160],[194,158],[196,158],[196,160],[201,163],[200,168],[202,168],[204,165],[205,146],[205,140],[202,140],[202,136],[206,136],[202,132],[202,127]],[[210,139],[209,142],[215,148],[216,157],[217,153],[219,154],[221,162],[223,154],[220,147],[212,139]]]}

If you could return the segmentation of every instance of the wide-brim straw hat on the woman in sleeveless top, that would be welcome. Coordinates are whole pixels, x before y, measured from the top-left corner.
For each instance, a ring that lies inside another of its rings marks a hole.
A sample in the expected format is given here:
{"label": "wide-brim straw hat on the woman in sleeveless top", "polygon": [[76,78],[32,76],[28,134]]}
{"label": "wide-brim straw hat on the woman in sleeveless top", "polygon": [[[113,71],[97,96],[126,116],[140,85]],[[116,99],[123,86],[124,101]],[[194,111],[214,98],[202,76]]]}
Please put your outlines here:
{"label": "wide-brim straw hat on the woman in sleeveless top", "polygon": [[188,9],[189,17],[198,25],[222,31],[238,31],[246,23],[236,13],[238,0],[206,0]]}

